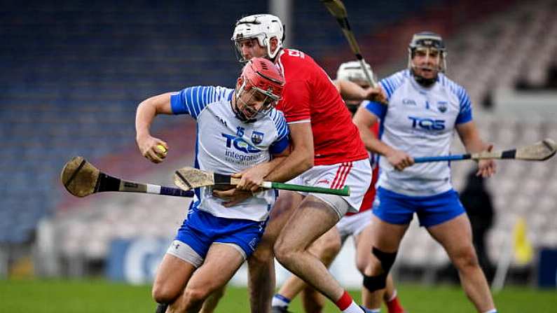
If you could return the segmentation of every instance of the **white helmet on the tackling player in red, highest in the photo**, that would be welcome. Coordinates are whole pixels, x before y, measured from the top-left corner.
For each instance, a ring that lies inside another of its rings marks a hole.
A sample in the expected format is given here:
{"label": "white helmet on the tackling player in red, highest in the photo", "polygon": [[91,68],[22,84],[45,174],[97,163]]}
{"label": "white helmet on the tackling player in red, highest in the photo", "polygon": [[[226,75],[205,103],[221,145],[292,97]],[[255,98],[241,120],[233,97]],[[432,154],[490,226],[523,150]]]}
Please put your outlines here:
{"label": "white helmet on the tackling player in red, highest in the photo", "polygon": [[[278,44],[277,49],[271,52],[270,39],[273,37],[277,39]],[[284,41],[284,27],[280,18],[270,14],[256,14],[240,18],[236,22],[231,40],[234,42],[240,62],[247,62],[247,60],[242,56],[239,43],[242,39],[252,38],[259,41],[259,46],[267,47],[267,55],[269,59],[273,60],[282,48],[282,41]]]}

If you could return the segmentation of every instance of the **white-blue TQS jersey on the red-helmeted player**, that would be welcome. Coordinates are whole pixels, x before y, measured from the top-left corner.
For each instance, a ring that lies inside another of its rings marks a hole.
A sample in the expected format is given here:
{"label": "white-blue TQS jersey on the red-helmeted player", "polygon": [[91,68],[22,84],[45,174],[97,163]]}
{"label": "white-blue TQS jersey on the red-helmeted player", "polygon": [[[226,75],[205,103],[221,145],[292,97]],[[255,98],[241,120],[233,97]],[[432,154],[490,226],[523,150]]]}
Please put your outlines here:
{"label": "white-blue TQS jersey on the red-helmeted player", "polygon": [[[174,114],[197,120],[195,167],[220,174],[233,174],[270,160],[289,145],[289,132],[282,112],[273,109],[252,123],[236,118],[232,110],[233,89],[195,86],[170,97]],[[214,216],[265,221],[275,203],[275,190],[256,193],[234,207],[224,207],[212,188],[195,190],[193,206]]]}

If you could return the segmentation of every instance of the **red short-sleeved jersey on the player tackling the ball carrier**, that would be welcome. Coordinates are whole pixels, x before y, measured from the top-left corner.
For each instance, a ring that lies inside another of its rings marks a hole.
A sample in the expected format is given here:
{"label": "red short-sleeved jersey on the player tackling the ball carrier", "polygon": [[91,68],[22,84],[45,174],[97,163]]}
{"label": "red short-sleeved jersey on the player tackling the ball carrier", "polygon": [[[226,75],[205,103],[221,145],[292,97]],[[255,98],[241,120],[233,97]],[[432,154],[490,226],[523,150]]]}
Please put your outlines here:
{"label": "red short-sleeved jersey on the player tackling the ball carrier", "polygon": [[298,50],[280,51],[277,65],[286,81],[277,109],[289,124],[311,123],[315,165],[368,158],[350,111],[326,72]]}

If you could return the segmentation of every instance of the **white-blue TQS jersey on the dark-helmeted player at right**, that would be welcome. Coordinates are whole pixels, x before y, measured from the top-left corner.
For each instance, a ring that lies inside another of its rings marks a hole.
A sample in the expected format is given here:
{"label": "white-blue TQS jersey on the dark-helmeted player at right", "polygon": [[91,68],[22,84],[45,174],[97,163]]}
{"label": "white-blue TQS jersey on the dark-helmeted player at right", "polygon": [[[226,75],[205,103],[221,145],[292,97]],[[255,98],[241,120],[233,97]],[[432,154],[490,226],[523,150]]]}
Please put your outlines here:
{"label": "white-blue TQS jersey on the dark-helmeted player at right", "polygon": [[[380,139],[412,157],[450,153],[455,125],[472,120],[472,105],[460,85],[439,74],[431,88],[415,82],[408,69],[382,81],[388,106],[377,102],[366,109],[381,120]],[[413,196],[436,195],[450,190],[448,162],[415,164],[399,172],[386,158],[380,158],[378,186]]]}

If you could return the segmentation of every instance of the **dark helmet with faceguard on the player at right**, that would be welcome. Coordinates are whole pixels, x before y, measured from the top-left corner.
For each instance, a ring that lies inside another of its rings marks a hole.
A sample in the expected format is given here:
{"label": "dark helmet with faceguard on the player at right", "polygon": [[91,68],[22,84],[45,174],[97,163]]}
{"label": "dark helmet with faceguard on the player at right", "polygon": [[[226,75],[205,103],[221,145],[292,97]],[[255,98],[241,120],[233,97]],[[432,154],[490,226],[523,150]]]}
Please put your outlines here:
{"label": "dark helmet with faceguard on the player at right", "polygon": [[[436,54],[436,67],[418,67],[414,64],[413,58],[417,53],[423,53],[427,58],[430,54]],[[410,69],[413,74],[415,81],[428,87],[437,81],[437,74],[439,72],[444,73],[447,69],[446,65],[447,52],[445,48],[445,43],[439,34],[433,32],[420,32],[412,36],[412,41],[408,45],[408,69]],[[435,71],[435,75],[432,78],[425,78],[416,73],[416,69],[427,69],[430,71]]]}

